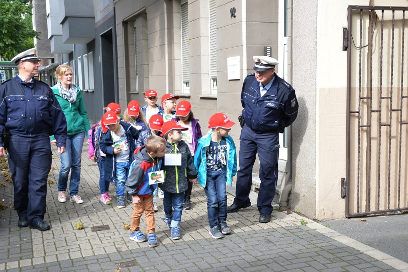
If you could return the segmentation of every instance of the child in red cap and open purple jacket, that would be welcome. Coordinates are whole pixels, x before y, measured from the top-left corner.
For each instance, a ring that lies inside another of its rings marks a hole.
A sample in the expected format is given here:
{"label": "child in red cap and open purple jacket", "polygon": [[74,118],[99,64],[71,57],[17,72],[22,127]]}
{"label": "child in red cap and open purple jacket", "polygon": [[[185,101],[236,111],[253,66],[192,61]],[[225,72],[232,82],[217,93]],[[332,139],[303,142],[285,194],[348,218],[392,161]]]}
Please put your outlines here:
{"label": "child in red cap and open purple jacket", "polygon": [[[176,117],[173,120],[178,121],[181,126],[188,128],[188,130],[183,131],[182,140],[187,144],[191,156],[194,159],[198,139],[202,137],[202,134],[198,119],[195,119],[192,114],[190,102],[187,100],[181,100],[178,102],[176,107]],[[186,210],[192,209],[191,191],[192,183],[189,182],[187,190],[184,192],[184,209]]]}

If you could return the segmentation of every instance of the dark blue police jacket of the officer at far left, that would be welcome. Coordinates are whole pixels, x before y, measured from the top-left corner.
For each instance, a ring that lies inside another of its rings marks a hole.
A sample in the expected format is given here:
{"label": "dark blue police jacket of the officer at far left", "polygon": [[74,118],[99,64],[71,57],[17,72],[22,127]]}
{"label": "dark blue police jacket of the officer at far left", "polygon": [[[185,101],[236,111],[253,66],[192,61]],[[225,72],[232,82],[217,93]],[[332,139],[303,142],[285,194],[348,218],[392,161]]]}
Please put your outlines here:
{"label": "dark blue police jacket of the officer at far left", "polygon": [[51,88],[36,79],[25,84],[16,76],[0,85],[0,147],[5,128],[23,137],[54,134],[57,147],[66,147],[65,115]]}

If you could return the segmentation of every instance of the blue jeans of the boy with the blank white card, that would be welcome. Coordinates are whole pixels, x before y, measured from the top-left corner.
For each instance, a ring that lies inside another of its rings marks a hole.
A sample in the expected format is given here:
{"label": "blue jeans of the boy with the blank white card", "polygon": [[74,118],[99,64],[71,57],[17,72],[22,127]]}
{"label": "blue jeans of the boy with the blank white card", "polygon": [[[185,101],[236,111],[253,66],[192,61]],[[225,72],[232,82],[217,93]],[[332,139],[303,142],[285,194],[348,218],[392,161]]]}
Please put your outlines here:
{"label": "blue jeans of the boy with the blank white card", "polygon": [[164,192],[163,206],[164,216],[171,218],[170,227],[178,228],[181,222],[181,214],[183,213],[184,192],[169,193]]}

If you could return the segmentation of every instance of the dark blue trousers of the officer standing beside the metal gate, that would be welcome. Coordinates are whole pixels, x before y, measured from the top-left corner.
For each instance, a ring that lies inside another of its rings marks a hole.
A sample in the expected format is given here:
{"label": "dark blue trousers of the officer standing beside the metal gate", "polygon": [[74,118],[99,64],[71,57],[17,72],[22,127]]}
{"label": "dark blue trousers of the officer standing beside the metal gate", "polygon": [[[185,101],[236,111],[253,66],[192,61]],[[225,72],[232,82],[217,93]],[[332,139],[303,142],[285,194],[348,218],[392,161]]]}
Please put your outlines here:
{"label": "dark blue trousers of the officer standing beside the metal gate", "polygon": [[257,134],[247,125],[242,127],[239,170],[237,174],[236,197],[234,199],[235,205],[242,207],[250,202],[249,193],[252,186],[252,168],[258,153],[261,184],[257,206],[259,213],[272,213],[273,207],[271,203],[275,195],[278,178],[278,144],[278,132]]}

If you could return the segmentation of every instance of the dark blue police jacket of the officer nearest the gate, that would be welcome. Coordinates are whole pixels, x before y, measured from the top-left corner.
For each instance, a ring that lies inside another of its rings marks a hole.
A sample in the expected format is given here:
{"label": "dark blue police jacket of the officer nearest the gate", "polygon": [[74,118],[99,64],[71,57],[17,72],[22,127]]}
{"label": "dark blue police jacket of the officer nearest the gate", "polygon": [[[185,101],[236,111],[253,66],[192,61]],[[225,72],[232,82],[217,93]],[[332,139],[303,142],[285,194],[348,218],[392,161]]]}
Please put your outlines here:
{"label": "dark blue police jacket of the officer nearest the gate", "polygon": [[249,74],[242,86],[242,115],[245,124],[255,133],[282,133],[297,116],[298,104],[294,89],[275,73],[273,76],[272,86],[262,97],[255,73]]}

